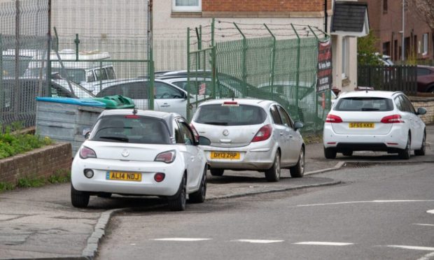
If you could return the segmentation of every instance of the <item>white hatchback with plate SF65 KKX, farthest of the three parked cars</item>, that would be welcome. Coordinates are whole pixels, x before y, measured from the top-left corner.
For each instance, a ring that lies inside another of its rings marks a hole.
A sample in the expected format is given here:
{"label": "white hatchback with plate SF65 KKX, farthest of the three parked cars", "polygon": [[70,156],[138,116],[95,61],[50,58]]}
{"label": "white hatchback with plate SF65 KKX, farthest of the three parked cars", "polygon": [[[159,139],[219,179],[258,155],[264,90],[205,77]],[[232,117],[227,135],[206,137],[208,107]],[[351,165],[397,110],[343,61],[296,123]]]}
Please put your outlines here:
{"label": "white hatchback with plate SF65 KKX, farthest of the three parked cars", "polygon": [[402,92],[357,91],[339,95],[327,115],[323,130],[324,156],[353,151],[398,153],[409,159],[411,151],[425,154],[425,124]]}

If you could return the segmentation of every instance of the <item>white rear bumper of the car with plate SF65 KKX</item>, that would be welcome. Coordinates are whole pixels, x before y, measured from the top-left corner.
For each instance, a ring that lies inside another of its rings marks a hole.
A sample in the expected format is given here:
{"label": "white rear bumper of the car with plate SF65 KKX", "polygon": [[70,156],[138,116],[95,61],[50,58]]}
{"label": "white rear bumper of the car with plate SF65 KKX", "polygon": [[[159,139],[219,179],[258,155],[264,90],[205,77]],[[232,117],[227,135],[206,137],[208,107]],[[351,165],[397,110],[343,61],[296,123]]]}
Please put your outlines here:
{"label": "white rear bumper of the car with plate SF65 KKX", "polygon": [[345,151],[384,151],[398,152],[407,145],[407,131],[401,127],[392,127],[384,135],[337,134],[330,124],[323,129],[323,145],[335,148],[337,152]]}

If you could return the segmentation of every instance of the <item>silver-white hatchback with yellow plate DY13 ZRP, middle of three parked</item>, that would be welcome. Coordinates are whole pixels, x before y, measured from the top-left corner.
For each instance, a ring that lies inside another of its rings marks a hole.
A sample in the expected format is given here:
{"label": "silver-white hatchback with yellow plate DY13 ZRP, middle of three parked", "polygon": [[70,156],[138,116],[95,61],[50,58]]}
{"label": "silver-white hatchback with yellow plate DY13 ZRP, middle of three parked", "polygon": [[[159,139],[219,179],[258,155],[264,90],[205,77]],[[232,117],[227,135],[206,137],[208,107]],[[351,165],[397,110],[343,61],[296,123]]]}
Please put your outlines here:
{"label": "silver-white hatchback with yellow plate DY13 ZRP, middle of three parked", "polygon": [[294,178],[304,174],[304,142],[298,129],[279,103],[254,99],[218,99],[202,103],[192,125],[200,136],[211,175],[225,169],[265,172],[269,182],[277,182],[281,168],[289,168]]}

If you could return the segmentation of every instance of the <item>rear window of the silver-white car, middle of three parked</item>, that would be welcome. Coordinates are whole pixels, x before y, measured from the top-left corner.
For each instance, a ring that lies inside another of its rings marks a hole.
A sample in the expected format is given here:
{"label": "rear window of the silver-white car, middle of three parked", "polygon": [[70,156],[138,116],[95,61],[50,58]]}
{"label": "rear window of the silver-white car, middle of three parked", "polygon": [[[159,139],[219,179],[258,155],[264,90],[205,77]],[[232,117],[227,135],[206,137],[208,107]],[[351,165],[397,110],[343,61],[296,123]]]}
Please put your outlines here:
{"label": "rear window of the silver-white car, middle of three parked", "polygon": [[194,122],[200,124],[215,124],[222,126],[242,126],[262,124],[267,118],[267,113],[258,107],[250,105],[223,106],[222,104],[201,106]]}

